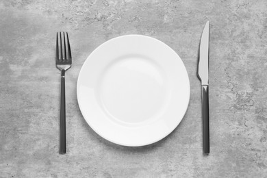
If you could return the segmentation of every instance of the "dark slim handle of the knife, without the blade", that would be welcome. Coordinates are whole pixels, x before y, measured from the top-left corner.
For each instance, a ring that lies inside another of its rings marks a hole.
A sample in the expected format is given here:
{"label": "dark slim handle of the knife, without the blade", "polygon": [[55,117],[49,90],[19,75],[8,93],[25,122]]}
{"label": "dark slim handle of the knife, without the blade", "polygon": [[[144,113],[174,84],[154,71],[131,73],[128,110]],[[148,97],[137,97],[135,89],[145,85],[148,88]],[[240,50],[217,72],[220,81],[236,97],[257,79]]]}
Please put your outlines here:
{"label": "dark slim handle of the knife, without the blade", "polygon": [[209,86],[202,86],[203,151],[209,153]]}

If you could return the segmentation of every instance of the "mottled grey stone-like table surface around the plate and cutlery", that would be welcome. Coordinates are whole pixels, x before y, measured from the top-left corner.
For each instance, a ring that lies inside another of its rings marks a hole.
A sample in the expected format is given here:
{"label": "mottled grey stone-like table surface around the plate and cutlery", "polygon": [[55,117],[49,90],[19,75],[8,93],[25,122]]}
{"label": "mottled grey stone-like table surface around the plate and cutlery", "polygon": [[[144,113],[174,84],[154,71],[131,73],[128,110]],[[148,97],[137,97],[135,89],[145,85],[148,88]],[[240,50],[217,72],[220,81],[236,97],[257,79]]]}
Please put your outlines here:
{"label": "mottled grey stone-like table surface around the plate and cutlery", "polygon": [[[199,40],[210,21],[211,153],[203,155]],[[67,153],[58,154],[55,33],[68,31]],[[79,70],[125,34],[162,40],[186,65],[191,96],[177,129],[146,147],[97,135],[76,97]],[[267,177],[267,1],[0,1],[0,177]]]}

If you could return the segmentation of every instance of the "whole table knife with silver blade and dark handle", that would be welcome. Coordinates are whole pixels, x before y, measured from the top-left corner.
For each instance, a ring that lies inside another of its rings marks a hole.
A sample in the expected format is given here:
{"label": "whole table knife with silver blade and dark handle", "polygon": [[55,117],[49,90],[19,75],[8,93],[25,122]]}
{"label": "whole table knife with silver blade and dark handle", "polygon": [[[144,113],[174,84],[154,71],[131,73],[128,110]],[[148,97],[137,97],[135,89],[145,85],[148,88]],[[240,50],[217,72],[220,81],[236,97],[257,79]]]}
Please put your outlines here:
{"label": "whole table knife with silver blade and dark handle", "polygon": [[202,118],[203,118],[203,151],[209,153],[209,21],[207,21],[199,45],[199,64],[197,76],[201,81]]}

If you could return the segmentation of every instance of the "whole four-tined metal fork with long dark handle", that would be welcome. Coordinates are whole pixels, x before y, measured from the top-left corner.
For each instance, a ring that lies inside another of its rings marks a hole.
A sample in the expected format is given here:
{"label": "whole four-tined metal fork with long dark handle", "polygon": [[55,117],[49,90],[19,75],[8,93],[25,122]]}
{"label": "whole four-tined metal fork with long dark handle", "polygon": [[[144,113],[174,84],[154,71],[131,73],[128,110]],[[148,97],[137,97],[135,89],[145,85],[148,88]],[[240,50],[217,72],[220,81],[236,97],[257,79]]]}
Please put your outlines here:
{"label": "whole four-tined metal fork with long dark handle", "polygon": [[[65,37],[66,36],[66,37]],[[66,40],[65,40],[66,38]],[[60,47],[59,47],[60,43]],[[61,97],[60,97],[60,154],[66,153],[66,103],[65,103],[65,72],[71,68],[71,45],[68,32],[60,32],[60,40],[56,42],[55,66],[61,71]]]}

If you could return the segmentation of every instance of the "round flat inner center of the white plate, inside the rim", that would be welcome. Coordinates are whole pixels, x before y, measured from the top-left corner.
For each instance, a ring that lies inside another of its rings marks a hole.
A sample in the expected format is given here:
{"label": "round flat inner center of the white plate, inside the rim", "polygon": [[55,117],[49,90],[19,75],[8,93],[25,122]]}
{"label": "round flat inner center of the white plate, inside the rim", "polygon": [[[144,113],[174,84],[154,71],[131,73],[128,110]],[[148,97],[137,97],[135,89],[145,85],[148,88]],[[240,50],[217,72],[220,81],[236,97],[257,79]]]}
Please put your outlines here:
{"label": "round flat inner center of the white plate, inside the rim", "polygon": [[162,69],[142,56],[114,60],[99,82],[99,97],[108,115],[123,123],[141,123],[159,114],[166,100]]}

